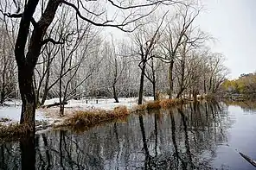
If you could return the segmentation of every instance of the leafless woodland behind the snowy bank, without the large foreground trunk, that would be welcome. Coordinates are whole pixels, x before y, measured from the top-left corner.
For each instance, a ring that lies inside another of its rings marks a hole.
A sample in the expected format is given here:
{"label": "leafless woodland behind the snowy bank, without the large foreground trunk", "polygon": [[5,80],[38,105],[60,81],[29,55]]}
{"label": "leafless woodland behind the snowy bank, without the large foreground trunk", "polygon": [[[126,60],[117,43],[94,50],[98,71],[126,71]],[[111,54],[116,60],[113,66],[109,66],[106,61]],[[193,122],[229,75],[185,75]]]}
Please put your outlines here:
{"label": "leafless woodland behind the snowy bank, without the large foreground trunk", "polygon": [[[118,102],[118,97],[140,93],[155,98],[157,93],[170,98],[217,93],[228,73],[225,58],[207,46],[214,37],[194,24],[202,5],[188,2],[133,22],[136,29],[121,39],[90,22],[78,23],[75,10],[61,8],[46,34],[53,39],[45,41],[35,66],[37,103],[43,105],[49,98],[65,103],[72,98],[106,97]],[[5,11],[11,8],[8,1],[3,4]],[[84,15],[97,20],[90,12]],[[8,98],[20,98],[14,55],[18,22],[2,16],[0,24],[3,104]]]}

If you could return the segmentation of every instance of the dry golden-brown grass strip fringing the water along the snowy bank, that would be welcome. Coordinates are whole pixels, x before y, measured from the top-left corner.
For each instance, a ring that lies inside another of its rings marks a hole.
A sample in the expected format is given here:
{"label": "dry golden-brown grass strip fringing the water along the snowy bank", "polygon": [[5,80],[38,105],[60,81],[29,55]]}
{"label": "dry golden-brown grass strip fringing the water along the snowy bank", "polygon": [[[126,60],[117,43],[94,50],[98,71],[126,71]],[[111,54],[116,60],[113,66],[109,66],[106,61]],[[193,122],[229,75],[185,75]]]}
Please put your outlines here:
{"label": "dry golden-brown grass strip fringing the water along the snowy bank", "polygon": [[[128,110],[125,106],[118,106],[113,110],[78,110],[63,117],[63,121],[58,125],[53,125],[54,128],[65,128],[81,130],[102,124],[110,123],[112,121],[124,120],[131,113],[142,113],[143,111],[169,109],[179,104],[184,104],[184,99],[163,99],[160,101],[150,101],[145,104],[137,105]],[[18,123],[10,125],[1,125],[0,123],[0,137],[1,138],[19,138],[26,135],[27,127]]]}

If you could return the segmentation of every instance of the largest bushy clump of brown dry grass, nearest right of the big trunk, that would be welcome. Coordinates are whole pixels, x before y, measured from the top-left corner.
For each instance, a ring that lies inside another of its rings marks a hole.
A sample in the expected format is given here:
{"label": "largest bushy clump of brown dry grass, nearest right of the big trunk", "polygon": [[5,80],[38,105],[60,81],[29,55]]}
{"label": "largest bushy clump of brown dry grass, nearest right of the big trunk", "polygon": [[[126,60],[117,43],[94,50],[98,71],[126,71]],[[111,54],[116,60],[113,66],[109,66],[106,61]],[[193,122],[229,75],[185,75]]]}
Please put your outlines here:
{"label": "largest bushy clump of brown dry grass, nearest right of the big trunk", "polygon": [[99,123],[105,123],[114,119],[128,116],[129,110],[125,106],[116,107],[114,110],[86,110],[75,111],[74,115],[67,117],[62,126],[92,127]]}

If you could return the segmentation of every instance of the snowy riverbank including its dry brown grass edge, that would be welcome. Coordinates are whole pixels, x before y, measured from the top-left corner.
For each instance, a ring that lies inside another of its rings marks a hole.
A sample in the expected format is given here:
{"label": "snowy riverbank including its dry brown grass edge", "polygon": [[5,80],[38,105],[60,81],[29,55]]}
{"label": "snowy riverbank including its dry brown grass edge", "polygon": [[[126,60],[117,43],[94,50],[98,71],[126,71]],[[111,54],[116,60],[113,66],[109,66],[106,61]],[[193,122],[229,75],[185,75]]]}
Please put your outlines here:
{"label": "snowy riverbank including its dry brown grass edge", "polygon": [[[153,101],[153,98],[144,98],[144,104],[138,105],[137,98],[120,98],[120,103],[112,99],[97,99],[98,101],[71,100],[65,105],[64,116],[59,116],[57,106],[48,109],[36,110],[35,129],[40,133],[43,129],[68,127],[69,129],[86,129],[100,123],[107,123],[124,119],[131,113],[141,113],[144,110],[168,109],[172,106],[186,103],[184,99],[163,99]],[[54,99],[47,104],[55,102]],[[94,103],[94,104],[93,104]],[[2,110],[2,111],[1,111]],[[16,106],[9,104],[0,109],[0,137],[19,137],[25,133],[18,120],[21,105],[16,101]]]}

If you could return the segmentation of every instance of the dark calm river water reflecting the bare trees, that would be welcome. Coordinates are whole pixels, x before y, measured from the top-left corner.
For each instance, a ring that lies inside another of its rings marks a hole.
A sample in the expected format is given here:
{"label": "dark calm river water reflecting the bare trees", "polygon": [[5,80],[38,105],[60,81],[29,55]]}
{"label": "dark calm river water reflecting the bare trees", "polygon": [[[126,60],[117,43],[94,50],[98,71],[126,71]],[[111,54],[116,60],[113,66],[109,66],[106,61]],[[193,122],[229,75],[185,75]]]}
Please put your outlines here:
{"label": "dark calm river water reflecting the bare trees", "polygon": [[0,144],[0,169],[254,169],[235,149],[256,160],[255,122],[251,108],[188,104]]}

